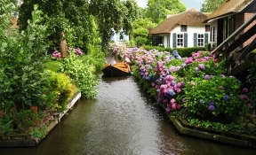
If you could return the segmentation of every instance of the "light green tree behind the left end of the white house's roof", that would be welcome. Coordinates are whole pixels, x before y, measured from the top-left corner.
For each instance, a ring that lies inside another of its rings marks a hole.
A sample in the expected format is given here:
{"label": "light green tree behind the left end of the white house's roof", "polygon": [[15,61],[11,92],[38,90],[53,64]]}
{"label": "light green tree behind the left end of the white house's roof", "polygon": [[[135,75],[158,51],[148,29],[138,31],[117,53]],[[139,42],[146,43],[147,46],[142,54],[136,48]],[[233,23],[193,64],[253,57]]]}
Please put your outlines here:
{"label": "light green tree behind the left end of the white house's roof", "polygon": [[176,14],[186,11],[186,9],[180,0],[148,0],[146,17],[159,23],[166,19],[168,13]]}

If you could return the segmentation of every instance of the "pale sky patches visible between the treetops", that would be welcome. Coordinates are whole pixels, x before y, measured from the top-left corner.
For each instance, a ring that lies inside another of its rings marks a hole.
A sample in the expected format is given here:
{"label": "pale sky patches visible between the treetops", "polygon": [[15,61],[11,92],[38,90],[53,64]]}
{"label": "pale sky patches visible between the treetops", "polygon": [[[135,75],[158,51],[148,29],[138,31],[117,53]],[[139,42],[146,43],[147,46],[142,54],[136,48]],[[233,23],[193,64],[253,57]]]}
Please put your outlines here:
{"label": "pale sky patches visible between the treetops", "polygon": [[[146,7],[148,0],[136,0],[140,7]],[[196,8],[197,11],[200,11],[204,0],[180,0],[182,4],[187,6],[187,9]]]}

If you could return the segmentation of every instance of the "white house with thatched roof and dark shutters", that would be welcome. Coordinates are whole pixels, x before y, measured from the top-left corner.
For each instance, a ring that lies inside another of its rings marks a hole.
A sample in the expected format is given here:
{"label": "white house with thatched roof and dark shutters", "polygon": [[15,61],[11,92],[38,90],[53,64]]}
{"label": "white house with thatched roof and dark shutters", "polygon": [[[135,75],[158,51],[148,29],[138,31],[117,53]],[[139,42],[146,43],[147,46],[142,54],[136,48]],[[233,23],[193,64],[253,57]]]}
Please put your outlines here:
{"label": "white house with thatched roof and dark shutters", "polygon": [[209,41],[210,26],[203,23],[207,16],[196,9],[171,15],[149,35],[153,36],[153,45],[163,44],[164,47],[185,48],[204,47]]}

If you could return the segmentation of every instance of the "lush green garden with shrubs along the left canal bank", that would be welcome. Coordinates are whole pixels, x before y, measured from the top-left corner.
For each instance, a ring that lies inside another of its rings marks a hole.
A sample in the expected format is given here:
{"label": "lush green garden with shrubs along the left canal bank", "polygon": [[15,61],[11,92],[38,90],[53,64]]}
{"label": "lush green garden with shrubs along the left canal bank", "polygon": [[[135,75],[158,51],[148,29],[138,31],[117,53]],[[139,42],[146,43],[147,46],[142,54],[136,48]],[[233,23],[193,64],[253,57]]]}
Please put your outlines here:
{"label": "lush green garden with shrubs along the left canal bank", "polygon": [[0,4],[1,140],[12,135],[41,139],[52,116],[66,111],[78,92],[83,98],[97,96],[95,72],[105,63],[104,53],[91,45],[84,54],[69,41],[68,56],[62,57],[58,46],[52,48],[56,40],[49,41],[49,27],[37,5],[28,27],[19,31],[6,28],[13,5]]}

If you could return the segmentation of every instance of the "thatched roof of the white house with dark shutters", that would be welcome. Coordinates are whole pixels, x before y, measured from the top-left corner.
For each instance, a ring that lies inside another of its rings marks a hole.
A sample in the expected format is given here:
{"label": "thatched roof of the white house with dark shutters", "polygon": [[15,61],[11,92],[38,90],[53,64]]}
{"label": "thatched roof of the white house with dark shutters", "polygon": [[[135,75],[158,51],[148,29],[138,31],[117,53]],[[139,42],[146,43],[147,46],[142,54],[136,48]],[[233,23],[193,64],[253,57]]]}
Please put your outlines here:
{"label": "thatched roof of the white house with dark shutters", "polygon": [[178,25],[190,25],[201,26],[205,25],[203,21],[207,16],[202,12],[197,12],[196,9],[190,9],[186,12],[181,12],[172,15],[168,19],[165,19],[157,27],[152,29],[149,34],[166,34],[170,33],[174,27]]}

